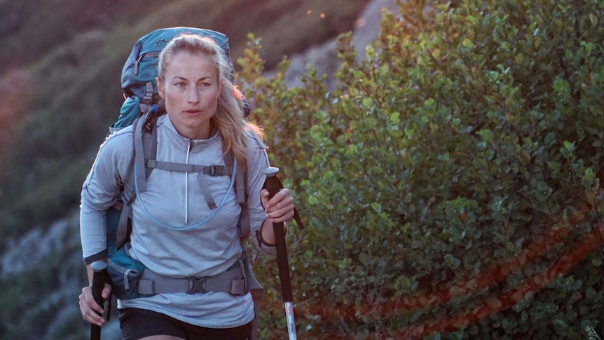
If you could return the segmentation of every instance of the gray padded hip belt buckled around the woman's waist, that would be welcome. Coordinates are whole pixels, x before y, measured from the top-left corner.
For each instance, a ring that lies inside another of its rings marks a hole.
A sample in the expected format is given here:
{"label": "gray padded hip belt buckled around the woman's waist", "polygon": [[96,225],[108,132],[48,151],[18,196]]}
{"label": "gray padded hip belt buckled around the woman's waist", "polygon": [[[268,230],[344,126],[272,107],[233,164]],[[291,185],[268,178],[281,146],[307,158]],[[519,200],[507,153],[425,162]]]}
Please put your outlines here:
{"label": "gray padded hip belt buckled around the woman's waist", "polygon": [[240,259],[224,273],[205,278],[171,278],[145,268],[138,284],[139,294],[227,292],[242,295],[249,292],[247,272]]}

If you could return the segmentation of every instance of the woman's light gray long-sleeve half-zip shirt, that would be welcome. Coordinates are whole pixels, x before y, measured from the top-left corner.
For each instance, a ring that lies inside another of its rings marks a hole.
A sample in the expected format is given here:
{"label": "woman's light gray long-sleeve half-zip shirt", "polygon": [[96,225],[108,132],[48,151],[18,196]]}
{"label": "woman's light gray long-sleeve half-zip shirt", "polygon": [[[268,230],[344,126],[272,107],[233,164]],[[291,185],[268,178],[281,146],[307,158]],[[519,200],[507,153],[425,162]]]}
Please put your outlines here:
{"label": "woman's light gray long-sleeve half-zip shirt", "polygon": [[[224,165],[220,133],[208,140],[188,140],[178,134],[167,115],[158,118],[156,128],[158,161]],[[252,132],[248,137],[252,150],[247,158],[247,209],[254,235],[265,219],[260,191],[263,170],[269,163],[266,146]],[[133,156],[132,142],[131,127],[111,135],[99,149],[83,184],[81,238],[85,259],[106,248],[105,214],[114,203],[120,184],[125,182]],[[154,169],[147,179],[147,190],[139,193],[132,203],[130,255],[151,271],[175,278],[214,276],[239,259],[237,223],[241,208],[234,190],[228,191],[231,177],[203,176],[217,205],[224,201],[218,210],[208,208],[197,172]],[[194,229],[179,230],[205,219],[207,222]],[[260,249],[274,253],[274,248]],[[249,294],[242,297],[224,292],[156,294],[118,301],[118,307],[149,309],[193,325],[214,328],[237,327],[254,318]]]}

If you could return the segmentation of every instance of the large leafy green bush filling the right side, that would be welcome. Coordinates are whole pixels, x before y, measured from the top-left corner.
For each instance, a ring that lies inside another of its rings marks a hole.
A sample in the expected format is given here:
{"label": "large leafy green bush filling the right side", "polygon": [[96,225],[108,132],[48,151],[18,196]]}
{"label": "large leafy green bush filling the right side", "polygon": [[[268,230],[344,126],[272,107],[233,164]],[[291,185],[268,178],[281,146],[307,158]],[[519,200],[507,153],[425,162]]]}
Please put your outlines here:
{"label": "large leafy green bush filling the right side", "polygon": [[[399,1],[338,85],[284,60],[240,77],[308,229],[290,229],[305,339],[604,333],[602,1]],[[284,338],[272,259],[262,335]]]}

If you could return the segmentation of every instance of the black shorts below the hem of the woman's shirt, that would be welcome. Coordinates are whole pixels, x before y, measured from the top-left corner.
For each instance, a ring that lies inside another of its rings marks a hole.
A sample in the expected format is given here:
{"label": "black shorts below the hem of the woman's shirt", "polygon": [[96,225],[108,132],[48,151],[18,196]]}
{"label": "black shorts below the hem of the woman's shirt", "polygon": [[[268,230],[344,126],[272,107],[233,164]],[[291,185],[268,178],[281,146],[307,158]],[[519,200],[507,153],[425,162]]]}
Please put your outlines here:
{"label": "black shorts below the hem of the woman's shirt", "polygon": [[252,322],[234,328],[205,328],[139,308],[121,309],[120,327],[124,340],[152,335],[171,335],[191,340],[248,340],[252,334]]}

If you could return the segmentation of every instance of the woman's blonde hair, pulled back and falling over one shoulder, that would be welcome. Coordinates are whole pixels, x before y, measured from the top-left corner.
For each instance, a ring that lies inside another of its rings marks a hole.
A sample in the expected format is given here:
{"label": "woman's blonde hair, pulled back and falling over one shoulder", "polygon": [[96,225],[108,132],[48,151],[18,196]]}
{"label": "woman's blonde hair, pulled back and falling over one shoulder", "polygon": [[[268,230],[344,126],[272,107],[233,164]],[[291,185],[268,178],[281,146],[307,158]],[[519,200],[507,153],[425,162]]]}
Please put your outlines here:
{"label": "woman's blonde hair, pulled back and falling over one shoulder", "polygon": [[[218,97],[216,114],[210,118],[210,123],[218,128],[222,135],[224,155],[232,152],[239,166],[247,169],[247,150],[250,147],[248,134],[253,132],[262,137],[262,131],[243,115],[243,95],[231,81],[230,58],[213,39],[198,34],[181,34],[172,39],[159,55],[160,81],[164,81],[166,68],[170,66],[170,57],[181,51],[212,57],[222,90]],[[163,106],[163,100],[160,106]]]}

